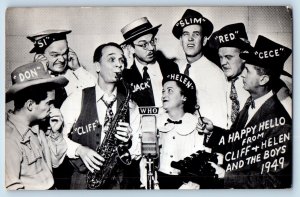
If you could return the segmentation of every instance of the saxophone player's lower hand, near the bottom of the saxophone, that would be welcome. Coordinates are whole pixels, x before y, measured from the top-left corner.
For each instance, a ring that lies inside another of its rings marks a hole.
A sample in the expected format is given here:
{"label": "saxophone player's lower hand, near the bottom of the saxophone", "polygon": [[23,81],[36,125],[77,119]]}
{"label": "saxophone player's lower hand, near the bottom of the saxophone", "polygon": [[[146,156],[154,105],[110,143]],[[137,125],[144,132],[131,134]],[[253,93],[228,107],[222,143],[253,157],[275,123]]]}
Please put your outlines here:
{"label": "saxophone player's lower hand, near the bottom of the saxophone", "polygon": [[103,165],[104,158],[87,146],[79,146],[76,153],[82,159],[87,169],[91,172],[94,172],[94,170],[100,170],[100,166]]}

